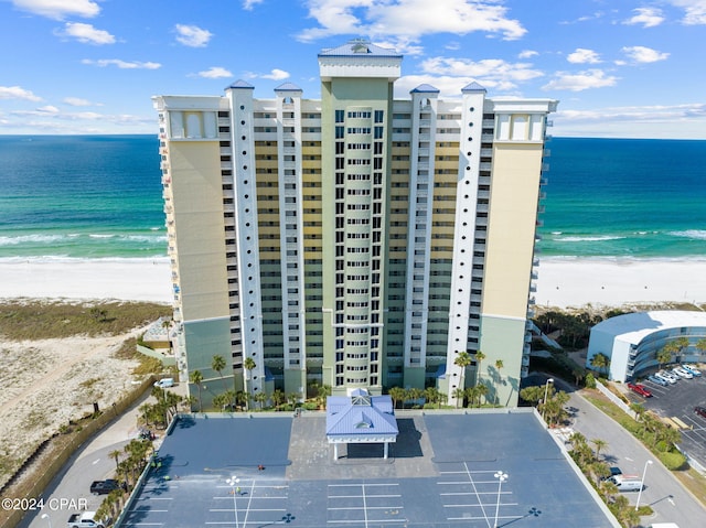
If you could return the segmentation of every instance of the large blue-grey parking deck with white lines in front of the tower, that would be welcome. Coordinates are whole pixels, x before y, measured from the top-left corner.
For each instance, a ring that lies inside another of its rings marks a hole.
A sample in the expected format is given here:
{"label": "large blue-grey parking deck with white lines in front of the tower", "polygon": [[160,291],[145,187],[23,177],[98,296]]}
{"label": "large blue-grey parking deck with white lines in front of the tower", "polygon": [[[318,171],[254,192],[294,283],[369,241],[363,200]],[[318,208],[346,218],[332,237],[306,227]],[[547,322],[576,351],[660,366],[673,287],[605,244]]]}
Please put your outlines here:
{"label": "large blue-grey parking deck with white lines in front of the tower", "polygon": [[120,526],[611,526],[530,410],[398,423],[391,459],[371,444],[334,460],[323,414],[182,418]]}

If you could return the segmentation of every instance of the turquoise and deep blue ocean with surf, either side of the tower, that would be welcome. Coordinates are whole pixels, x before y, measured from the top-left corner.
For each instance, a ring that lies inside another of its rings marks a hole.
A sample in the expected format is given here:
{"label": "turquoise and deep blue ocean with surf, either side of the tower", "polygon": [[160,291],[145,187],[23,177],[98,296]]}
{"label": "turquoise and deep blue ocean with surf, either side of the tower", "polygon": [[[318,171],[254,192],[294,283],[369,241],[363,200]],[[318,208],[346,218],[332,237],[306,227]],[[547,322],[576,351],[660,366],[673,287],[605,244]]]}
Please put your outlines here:
{"label": "turquoise and deep blue ocean with surf, either side of the tower", "polygon": [[[542,258],[706,258],[706,141],[553,138]],[[167,256],[156,136],[0,136],[0,261]]]}

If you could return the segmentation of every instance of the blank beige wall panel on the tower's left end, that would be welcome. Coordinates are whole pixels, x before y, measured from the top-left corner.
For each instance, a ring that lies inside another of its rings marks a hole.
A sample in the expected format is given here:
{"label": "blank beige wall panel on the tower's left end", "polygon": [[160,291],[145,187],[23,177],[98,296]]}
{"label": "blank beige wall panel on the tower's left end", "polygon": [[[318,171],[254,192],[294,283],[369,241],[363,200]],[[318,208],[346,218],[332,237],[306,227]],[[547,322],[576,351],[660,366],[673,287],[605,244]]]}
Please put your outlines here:
{"label": "blank beige wall panel on the tower's left end", "polygon": [[183,316],[227,317],[218,142],[171,141],[169,161]]}

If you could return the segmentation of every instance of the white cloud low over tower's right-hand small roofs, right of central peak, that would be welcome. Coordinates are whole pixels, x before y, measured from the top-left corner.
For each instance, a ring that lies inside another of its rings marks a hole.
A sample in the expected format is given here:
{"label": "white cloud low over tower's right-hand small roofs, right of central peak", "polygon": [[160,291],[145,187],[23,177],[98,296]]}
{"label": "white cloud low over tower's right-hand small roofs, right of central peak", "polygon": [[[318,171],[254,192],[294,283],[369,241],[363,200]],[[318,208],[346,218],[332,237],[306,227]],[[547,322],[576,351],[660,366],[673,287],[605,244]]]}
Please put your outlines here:
{"label": "white cloud low over tower's right-hand small roofs, right of central peak", "polygon": [[[503,90],[514,89],[518,83],[542,77],[544,74],[533,69],[528,63],[509,63],[500,58],[470,61],[467,58],[431,57],[421,63],[425,74],[450,76],[470,80],[478,80],[486,88]],[[436,86],[436,82],[431,82]]]}

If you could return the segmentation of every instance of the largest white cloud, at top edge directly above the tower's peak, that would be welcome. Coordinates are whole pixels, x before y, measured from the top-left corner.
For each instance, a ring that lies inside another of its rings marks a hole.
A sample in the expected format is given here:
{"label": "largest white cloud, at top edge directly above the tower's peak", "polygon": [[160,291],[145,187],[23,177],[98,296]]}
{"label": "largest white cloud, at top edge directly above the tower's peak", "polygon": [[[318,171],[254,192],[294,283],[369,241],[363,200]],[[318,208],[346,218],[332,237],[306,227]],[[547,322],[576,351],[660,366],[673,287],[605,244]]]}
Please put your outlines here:
{"label": "largest white cloud, at top edge directly above the tower's peak", "polygon": [[428,0],[307,0],[306,6],[319,26],[302,31],[302,41],[340,34],[418,39],[475,31],[516,40],[527,31],[494,0],[438,0],[434,6]]}

